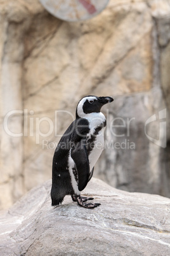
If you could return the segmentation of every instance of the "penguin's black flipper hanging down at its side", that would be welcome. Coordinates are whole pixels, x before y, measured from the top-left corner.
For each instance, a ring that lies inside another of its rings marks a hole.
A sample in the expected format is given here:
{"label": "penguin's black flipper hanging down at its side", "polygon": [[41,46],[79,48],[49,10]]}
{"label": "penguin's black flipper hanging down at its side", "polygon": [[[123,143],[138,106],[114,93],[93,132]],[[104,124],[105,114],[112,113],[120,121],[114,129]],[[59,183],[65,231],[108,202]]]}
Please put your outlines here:
{"label": "penguin's black flipper hanging down at its side", "polygon": [[86,140],[82,139],[72,146],[71,157],[75,162],[78,174],[78,188],[82,191],[89,181],[89,159],[85,145]]}

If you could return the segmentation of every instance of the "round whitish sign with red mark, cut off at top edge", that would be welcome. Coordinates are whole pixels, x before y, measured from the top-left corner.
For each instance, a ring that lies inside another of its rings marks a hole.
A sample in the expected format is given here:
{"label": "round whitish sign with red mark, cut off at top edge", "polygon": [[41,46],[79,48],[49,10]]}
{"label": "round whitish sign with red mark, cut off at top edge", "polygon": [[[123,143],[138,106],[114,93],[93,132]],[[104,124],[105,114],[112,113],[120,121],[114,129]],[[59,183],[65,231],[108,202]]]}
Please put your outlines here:
{"label": "round whitish sign with red mark, cut off at top edge", "polygon": [[39,0],[52,15],[62,20],[87,20],[98,15],[109,0]]}

